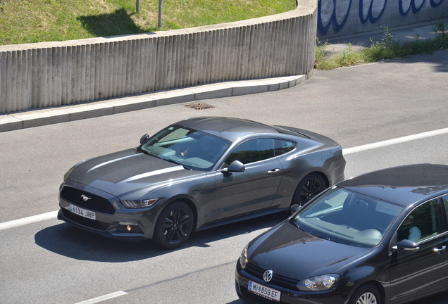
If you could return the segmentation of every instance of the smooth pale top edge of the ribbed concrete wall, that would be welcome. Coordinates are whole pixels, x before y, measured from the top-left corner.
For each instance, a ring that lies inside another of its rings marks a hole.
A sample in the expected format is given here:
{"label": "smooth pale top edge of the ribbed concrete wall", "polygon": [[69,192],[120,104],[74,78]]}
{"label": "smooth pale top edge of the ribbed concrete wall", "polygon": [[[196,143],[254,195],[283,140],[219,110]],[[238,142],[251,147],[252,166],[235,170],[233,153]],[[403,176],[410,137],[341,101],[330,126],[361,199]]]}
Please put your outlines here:
{"label": "smooth pale top edge of the ribbed concrete wall", "polygon": [[180,30],[169,30],[161,32],[147,32],[144,34],[126,34],[120,36],[111,37],[96,37],[89,39],[77,39],[77,40],[67,40],[61,42],[37,42],[33,44],[11,44],[6,46],[0,46],[0,52],[3,51],[20,51],[24,49],[44,49],[51,47],[63,47],[63,46],[79,46],[85,44],[97,44],[97,43],[108,43],[117,42],[124,40],[133,39],[146,39],[151,37],[166,37],[178,34],[191,34],[194,32],[207,32],[212,30],[223,30],[232,27],[242,27],[248,25],[257,25],[262,23],[270,23],[280,20],[286,20],[291,18],[303,17],[306,15],[313,14],[318,8],[318,0],[297,0],[297,8],[293,11],[288,11],[285,13],[279,13],[275,15],[267,15],[264,17],[235,21],[232,23],[220,23],[217,25],[204,25],[201,27],[190,27]]}

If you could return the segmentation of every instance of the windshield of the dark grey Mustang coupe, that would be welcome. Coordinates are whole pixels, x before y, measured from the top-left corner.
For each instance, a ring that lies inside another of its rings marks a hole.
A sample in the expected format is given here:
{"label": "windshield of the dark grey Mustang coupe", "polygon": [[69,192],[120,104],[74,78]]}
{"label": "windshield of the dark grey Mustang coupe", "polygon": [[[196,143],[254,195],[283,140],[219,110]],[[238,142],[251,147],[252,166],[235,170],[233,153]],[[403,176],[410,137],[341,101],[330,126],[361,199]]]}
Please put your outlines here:
{"label": "windshield of the dark grey Mustang coupe", "polygon": [[229,146],[230,141],[220,137],[171,125],[139,146],[139,150],[192,170],[209,171]]}

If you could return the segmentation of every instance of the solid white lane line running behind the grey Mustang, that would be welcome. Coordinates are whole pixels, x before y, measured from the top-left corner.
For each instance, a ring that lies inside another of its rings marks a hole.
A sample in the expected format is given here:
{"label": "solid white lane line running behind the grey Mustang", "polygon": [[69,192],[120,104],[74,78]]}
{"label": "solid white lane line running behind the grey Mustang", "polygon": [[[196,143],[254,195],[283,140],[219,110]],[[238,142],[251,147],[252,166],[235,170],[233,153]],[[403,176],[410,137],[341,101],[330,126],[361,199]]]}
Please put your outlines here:
{"label": "solid white lane line running behind the grey Mustang", "polygon": [[[366,144],[366,145],[363,145],[363,146],[356,146],[356,147],[352,147],[352,148],[344,148],[342,150],[342,153],[344,154],[344,156],[346,156],[346,155],[351,154],[351,153],[367,151],[367,150],[371,150],[371,149],[374,149],[374,148],[381,148],[381,147],[384,147],[384,146],[391,146],[393,144],[401,144],[401,143],[404,143],[406,141],[413,141],[413,140],[417,140],[417,139],[434,137],[434,136],[437,136],[437,135],[442,135],[442,134],[447,134],[447,133],[448,133],[448,128],[438,129],[438,130],[434,130],[434,131],[423,132],[423,133],[419,133],[419,134],[413,134],[413,135],[409,135],[409,136],[406,136],[406,137],[398,137],[396,139],[388,139],[388,140],[385,140],[385,141],[378,141],[378,142],[373,143],[373,144]],[[174,167],[174,168],[176,168],[176,167]],[[50,220],[50,219],[56,217],[57,213],[58,213],[58,210],[51,211],[49,213],[43,213],[41,215],[33,215],[33,216],[30,216],[30,217],[24,217],[22,219],[12,220],[12,221],[9,221],[9,222],[3,222],[3,223],[0,223],[0,230],[12,228],[12,227],[23,226],[25,224],[31,224],[33,222],[40,222],[40,221],[43,221],[43,220]]]}

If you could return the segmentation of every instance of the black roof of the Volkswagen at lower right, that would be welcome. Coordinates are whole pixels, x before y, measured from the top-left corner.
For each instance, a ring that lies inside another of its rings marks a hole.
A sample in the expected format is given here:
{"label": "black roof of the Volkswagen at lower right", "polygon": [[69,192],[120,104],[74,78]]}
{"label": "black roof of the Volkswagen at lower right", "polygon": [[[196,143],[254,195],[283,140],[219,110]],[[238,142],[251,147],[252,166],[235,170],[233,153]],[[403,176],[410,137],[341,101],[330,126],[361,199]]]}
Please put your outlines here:
{"label": "black roof of the Volkswagen at lower right", "polygon": [[446,194],[447,165],[404,165],[359,175],[337,184],[400,205],[412,205]]}

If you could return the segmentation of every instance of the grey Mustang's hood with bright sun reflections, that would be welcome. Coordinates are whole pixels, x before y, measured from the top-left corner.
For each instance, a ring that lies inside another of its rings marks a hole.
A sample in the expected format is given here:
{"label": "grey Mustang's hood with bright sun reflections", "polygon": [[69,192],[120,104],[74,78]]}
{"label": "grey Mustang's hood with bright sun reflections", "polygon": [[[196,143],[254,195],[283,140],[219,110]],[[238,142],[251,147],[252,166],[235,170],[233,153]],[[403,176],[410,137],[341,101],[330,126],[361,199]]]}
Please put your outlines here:
{"label": "grey Mustang's hood with bright sun reflections", "polygon": [[[133,149],[89,159],[70,171],[67,179],[72,182],[92,186],[118,198],[134,193],[134,199],[135,191],[143,190],[143,196],[168,182],[175,182],[175,179],[205,174],[144,153],[135,153]],[[137,198],[141,196],[137,195]]]}

